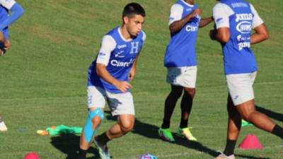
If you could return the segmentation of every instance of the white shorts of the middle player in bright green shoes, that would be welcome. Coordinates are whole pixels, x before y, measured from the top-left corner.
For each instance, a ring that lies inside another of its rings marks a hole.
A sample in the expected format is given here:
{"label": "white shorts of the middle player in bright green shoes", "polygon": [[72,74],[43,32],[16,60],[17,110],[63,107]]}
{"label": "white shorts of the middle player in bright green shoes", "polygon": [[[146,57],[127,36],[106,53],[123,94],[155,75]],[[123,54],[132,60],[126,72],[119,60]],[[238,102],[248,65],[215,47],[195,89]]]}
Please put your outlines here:
{"label": "white shorts of the middle player in bright green shoes", "polygon": [[168,67],[167,83],[185,88],[195,88],[197,81],[197,66]]}

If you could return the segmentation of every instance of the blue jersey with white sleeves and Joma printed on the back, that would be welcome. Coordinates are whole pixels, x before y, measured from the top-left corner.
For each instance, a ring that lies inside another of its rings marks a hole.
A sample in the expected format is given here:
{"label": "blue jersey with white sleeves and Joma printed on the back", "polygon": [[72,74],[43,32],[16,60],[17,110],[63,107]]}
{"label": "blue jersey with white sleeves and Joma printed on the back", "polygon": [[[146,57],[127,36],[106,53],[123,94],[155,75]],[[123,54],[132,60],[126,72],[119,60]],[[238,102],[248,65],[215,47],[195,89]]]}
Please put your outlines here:
{"label": "blue jersey with white sleeves and Joma printed on the back", "polygon": [[213,8],[216,29],[229,28],[230,40],[222,44],[225,74],[257,71],[250,36],[263,23],[253,5],[245,0],[222,0]]}

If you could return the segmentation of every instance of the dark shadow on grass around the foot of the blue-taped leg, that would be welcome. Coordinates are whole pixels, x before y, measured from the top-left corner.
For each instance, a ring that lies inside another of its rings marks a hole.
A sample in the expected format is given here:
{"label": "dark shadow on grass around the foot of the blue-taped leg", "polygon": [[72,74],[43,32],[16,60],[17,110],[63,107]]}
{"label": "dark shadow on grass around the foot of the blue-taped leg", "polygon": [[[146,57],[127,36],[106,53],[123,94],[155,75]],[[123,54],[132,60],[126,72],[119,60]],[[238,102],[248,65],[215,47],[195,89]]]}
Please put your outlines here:
{"label": "dark shadow on grass around the foot of the blue-taped leg", "polygon": [[[74,134],[61,134],[59,136],[52,136],[50,143],[62,153],[67,154],[66,159],[76,159],[77,151],[79,150],[79,140],[80,136],[76,136]],[[88,159],[99,158],[96,148],[89,148],[88,153],[94,154],[94,156]]]}

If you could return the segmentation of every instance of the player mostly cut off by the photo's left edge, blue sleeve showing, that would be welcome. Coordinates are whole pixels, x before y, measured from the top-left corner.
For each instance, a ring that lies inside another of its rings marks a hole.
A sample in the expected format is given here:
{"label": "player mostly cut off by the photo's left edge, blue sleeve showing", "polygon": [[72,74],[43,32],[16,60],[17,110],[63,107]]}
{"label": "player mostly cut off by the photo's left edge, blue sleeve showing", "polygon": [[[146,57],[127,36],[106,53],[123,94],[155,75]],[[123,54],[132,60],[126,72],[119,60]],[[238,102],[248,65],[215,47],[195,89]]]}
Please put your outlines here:
{"label": "player mostly cut off by the photo's left edge, blue sleeve showing", "polygon": [[[8,14],[11,11],[11,15]],[[10,49],[11,42],[8,35],[8,26],[23,15],[23,8],[14,0],[0,0],[0,57]],[[7,126],[0,114],[0,131],[7,131]]]}

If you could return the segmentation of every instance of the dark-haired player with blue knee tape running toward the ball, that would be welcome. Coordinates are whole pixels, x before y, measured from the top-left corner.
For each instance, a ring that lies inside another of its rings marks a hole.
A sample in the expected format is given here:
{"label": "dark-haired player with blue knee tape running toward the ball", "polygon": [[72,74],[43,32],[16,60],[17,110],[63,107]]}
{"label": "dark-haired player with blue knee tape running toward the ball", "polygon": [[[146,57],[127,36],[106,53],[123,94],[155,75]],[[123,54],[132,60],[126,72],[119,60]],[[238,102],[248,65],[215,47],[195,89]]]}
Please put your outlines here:
{"label": "dark-haired player with blue knee tape running toward the ball", "polygon": [[[146,39],[141,30],[145,16],[142,6],[127,4],[122,13],[122,26],[103,37],[98,56],[88,69],[88,119],[81,134],[79,159],[86,158],[93,140],[100,158],[110,158],[108,141],[124,136],[134,126],[134,101],[129,82],[136,74],[137,58]],[[117,116],[117,123],[96,136],[106,101],[112,115]]]}

